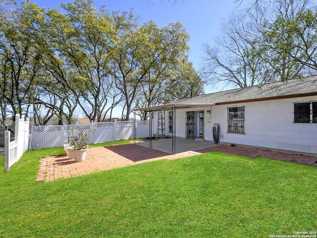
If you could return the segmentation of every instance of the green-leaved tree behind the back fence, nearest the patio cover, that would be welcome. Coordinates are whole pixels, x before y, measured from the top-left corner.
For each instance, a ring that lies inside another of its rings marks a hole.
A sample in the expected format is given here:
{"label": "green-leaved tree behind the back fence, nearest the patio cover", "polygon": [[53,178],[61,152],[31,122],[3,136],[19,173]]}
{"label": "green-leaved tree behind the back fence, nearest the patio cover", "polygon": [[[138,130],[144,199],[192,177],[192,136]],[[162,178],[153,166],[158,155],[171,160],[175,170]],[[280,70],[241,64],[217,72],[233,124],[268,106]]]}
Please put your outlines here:
{"label": "green-leaved tree behind the back fence, nearest the patio cover", "polygon": [[139,25],[132,11],[114,14],[113,19],[118,46],[111,67],[116,87],[124,95],[123,114],[128,120],[135,106],[155,103],[163,71],[186,56],[189,35],[179,22],[161,28],[153,21]]}

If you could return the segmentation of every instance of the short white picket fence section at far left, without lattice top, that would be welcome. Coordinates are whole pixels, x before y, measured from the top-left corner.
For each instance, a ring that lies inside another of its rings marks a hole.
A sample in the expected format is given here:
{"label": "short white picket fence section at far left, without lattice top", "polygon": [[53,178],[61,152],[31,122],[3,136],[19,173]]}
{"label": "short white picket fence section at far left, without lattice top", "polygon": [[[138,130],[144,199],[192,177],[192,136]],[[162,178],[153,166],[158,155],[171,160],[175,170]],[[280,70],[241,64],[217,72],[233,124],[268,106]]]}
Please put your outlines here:
{"label": "short white picket fence section at far left, without lattice top", "polygon": [[4,171],[8,172],[10,167],[17,162],[29,145],[29,119],[15,116],[14,140],[10,141],[10,131],[4,134]]}

